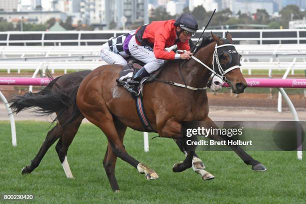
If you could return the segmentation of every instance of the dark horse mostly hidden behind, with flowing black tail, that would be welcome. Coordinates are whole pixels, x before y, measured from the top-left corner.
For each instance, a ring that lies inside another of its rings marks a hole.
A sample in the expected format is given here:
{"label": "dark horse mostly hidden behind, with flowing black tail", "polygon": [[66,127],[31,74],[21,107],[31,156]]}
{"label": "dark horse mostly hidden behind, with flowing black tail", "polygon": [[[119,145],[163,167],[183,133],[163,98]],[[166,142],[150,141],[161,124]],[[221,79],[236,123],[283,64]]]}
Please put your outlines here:
{"label": "dark horse mostly hidden behind, with flowing black tail", "polygon": [[[10,99],[10,107],[16,113],[31,107],[35,107],[34,112],[42,115],[56,113],[56,118],[53,119],[53,122],[57,121],[56,125],[48,131],[30,165],[22,168],[22,174],[31,173],[37,168],[48,148],[59,138],[55,150],[66,176],[73,178],[67,161],[67,151],[84,118],[76,105],[75,98],[79,84],[89,73],[90,70],[67,73],[53,79],[39,92],[27,92],[24,95],[15,95]],[[175,141],[180,150],[184,152],[180,139]],[[193,158],[192,166],[195,172],[201,174],[203,180],[214,178],[212,174],[204,170],[205,166],[197,155]]]}

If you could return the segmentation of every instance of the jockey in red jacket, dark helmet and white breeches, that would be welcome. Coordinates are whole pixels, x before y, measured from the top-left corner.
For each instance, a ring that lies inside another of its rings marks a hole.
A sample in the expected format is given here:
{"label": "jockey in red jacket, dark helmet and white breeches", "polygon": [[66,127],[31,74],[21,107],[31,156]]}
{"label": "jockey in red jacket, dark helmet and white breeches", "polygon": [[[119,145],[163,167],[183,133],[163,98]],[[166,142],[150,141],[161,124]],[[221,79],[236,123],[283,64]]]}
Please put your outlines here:
{"label": "jockey in red jacket, dark helmet and white breeches", "polygon": [[[188,39],[198,29],[196,19],[190,13],[183,13],[176,20],[152,21],[140,26],[128,43],[129,52],[136,59],[146,63],[132,78],[138,83],[143,77],[157,70],[165,60],[190,59],[192,53]],[[178,49],[187,52],[176,54],[166,51],[165,47],[177,44]],[[137,94],[137,87],[129,89]]]}

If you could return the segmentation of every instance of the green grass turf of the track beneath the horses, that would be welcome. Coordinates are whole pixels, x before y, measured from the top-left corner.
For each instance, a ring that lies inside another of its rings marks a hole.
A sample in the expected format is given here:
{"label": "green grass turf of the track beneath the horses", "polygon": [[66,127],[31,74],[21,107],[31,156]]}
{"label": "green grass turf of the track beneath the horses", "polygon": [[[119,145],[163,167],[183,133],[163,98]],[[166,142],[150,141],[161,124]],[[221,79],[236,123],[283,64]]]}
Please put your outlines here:
{"label": "green grass turf of the track beneath the horses", "polygon": [[[183,160],[171,139],[150,139],[143,151],[141,132],[128,129],[125,148],[130,155],[156,170],[159,179],[143,174],[118,159],[116,177],[120,193],[109,186],[102,159],[106,137],[92,124],[82,124],[69,151],[68,161],[75,179],[65,178],[52,145],[29,175],[21,168],[35,156],[50,128],[47,122],[16,122],[17,146],[11,145],[8,121],[0,121],[0,194],[33,194],[30,203],[305,203],[305,160],[296,152],[249,152],[268,170],[253,172],[231,151],[201,151],[206,170],[216,176],[201,180],[191,169],[173,173],[172,165]],[[149,137],[155,134],[149,134]],[[0,198],[0,203],[10,203]]]}

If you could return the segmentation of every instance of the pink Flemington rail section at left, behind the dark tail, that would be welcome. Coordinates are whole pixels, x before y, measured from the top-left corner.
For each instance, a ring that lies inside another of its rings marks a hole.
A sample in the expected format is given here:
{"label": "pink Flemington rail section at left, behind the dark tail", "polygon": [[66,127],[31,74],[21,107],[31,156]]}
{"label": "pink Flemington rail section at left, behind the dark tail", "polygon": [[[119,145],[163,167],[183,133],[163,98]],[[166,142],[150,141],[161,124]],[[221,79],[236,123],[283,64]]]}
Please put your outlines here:
{"label": "pink Flemington rail section at left, behind the dark tail", "polygon": [[47,85],[49,78],[0,77],[0,85]]}

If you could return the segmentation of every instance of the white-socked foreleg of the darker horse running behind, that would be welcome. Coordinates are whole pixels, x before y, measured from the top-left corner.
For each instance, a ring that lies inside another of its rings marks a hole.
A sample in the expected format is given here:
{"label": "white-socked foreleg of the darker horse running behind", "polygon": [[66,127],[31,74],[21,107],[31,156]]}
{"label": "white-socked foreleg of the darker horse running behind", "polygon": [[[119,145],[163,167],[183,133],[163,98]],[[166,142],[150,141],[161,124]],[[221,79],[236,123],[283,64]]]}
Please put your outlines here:
{"label": "white-socked foreleg of the darker horse running behind", "polygon": [[[176,142],[180,151],[183,152],[185,154],[185,156],[187,156],[188,154],[187,154],[187,151],[185,150],[183,139],[174,139],[174,141]],[[206,171],[204,169],[205,169],[205,165],[204,165],[203,161],[194,152],[194,155],[192,157],[192,170],[194,172],[200,174],[201,178],[203,180],[213,179],[214,175],[212,175],[211,173],[209,173],[208,171]]]}

